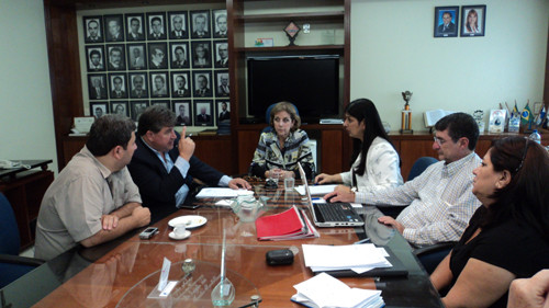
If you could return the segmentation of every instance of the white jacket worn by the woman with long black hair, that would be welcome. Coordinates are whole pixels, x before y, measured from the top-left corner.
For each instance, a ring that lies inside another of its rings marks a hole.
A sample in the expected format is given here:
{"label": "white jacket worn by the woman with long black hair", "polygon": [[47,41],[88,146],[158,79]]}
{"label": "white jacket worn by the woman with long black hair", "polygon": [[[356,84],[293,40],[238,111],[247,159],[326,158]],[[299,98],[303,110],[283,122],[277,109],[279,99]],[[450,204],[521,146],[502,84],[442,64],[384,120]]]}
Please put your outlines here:
{"label": "white jacket worn by the woman with long black hair", "polygon": [[[361,153],[352,163],[351,170],[339,173],[345,185],[352,185],[352,169],[360,163]],[[395,187],[403,184],[399,153],[393,146],[381,137],[376,137],[366,157],[365,174],[357,174],[358,193],[373,192],[385,187]]]}

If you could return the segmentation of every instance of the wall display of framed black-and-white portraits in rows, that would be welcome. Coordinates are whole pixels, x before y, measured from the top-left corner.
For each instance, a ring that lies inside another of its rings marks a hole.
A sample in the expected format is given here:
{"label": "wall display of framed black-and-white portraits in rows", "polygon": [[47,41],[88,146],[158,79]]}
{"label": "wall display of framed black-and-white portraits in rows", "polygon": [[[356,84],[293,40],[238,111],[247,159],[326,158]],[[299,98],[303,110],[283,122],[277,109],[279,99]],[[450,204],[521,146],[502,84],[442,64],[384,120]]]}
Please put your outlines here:
{"label": "wall display of framed black-and-white portraits in rows", "polygon": [[178,126],[231,119],[223,4],[77,11],[85,112],[138,121],[159,104]]}

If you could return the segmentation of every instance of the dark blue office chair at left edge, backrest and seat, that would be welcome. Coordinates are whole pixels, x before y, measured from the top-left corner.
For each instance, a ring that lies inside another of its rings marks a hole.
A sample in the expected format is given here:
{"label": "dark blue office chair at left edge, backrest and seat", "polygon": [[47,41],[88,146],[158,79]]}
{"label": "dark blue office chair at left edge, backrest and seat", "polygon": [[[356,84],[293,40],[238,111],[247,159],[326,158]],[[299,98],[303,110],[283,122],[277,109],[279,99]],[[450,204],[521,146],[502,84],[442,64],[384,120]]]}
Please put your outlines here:
{"label": "dark blue office chair at left edge, backrest and seat", "polygon": [[0,193],[0,288],[44,263],[19,256],[20,238],[15,215],[8,198]]}

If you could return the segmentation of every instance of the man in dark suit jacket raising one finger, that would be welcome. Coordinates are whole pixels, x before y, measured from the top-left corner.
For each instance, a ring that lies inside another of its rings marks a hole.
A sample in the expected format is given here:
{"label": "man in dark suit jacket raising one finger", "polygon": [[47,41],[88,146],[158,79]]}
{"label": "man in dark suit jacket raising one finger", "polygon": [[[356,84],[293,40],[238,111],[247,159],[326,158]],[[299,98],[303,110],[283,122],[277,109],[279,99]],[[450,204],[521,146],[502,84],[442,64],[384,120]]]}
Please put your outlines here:
{"label": "man in dark suit jacket raising one finger", "polygon": [[139,117],[137,149],[127,166],[139,187],[143,205],[150,208],[152,221],[176,212],[183,204],[197,186],[193,178],[211,186],[251,189],[245,180],[224,175],[194,157],[194,141],[184,138],[187,127],[179,138],[175,125],[176,114],[165,106],[145,110]]}

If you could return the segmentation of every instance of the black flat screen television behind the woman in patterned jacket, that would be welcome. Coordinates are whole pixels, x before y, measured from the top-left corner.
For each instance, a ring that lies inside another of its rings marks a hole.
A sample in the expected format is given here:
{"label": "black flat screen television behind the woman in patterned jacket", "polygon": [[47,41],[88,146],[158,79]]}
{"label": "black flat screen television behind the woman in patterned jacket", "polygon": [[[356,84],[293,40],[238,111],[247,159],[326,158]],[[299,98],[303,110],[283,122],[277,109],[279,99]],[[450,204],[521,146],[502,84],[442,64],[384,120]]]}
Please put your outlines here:
{"label": "black flat screen television behind the woman in patterned jacket", "polygon": [[339,116],[339,56],[249,57],[248,115],[264,121],[267,107],[289,101],[303,123]]}

